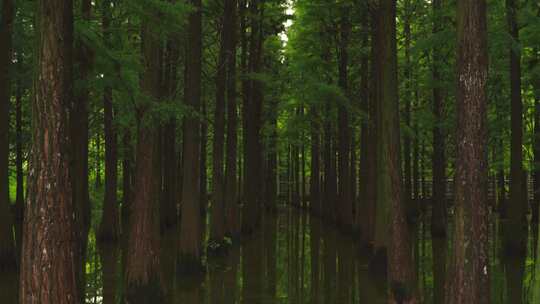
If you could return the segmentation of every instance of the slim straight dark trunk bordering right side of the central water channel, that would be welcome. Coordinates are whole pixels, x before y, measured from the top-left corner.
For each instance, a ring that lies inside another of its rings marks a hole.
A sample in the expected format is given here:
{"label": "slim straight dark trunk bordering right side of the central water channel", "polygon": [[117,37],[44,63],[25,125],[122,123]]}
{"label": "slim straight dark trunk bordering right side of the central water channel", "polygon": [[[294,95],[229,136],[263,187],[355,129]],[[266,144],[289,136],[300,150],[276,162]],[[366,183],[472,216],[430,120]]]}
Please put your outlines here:
{"label": "slim straight dark trunk bordering right side of the central water channel", "polygon": [[[351,24],[349,20],[350,8],[344,6],[340,20],[340,37],[338,51],[338,74],[339,87],[343,90],[345,96],[348,96],[348,75],[347,65],[349,61],[348,45]],[[352,219],[352,197],[351,197],[351,130],[349,125],[349,109],[344,103],[339,105],[338,109],[338,133],[339,133],[339,223],[344,230],[351,230]]]}

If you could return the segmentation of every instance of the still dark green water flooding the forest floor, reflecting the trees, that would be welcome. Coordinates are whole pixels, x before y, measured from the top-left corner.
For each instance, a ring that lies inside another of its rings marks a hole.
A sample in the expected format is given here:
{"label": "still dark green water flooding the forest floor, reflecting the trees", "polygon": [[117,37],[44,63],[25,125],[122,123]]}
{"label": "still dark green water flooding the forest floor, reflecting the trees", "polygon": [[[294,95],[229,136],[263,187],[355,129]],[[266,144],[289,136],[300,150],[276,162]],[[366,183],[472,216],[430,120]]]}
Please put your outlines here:
{"label": "still dark green water flooding the forest floor, reflecting the trees", "polygon": [[[429,219],[416,229],[414,255],[422,303],[434,303],[433,248],[444,244],[429,238]],[[530,237],[527,257],[501,259],[504,223],[493,220],[490,256],[492,303],[540,303],[535,283],[536,248]],[[532,229],[531,229],[532,230]],[[530,233],[529,235],[534,235]],[[351,236],[306,212],[283,207],[277,216],[266,215],[261,229],[225,257],[206,260],[207,272],[199,277],[175,275],[176,239],[162,237],[162,282],[166,303],[171,304],[376,304],[386,303],[381,274],[368,268],[365,249]],[[448,249],[446,249],[448,250]],[[441,252],[435,250],[435,256]],[[443,254],[444,256],[444,254]],[[449,254],[447,254],[447,257]],[[122,253],[118,247],[95,246],[90,240],[87,264],[87,303],[122,301]],[[437,268],[439,267],[439,268]],[[0,274],[0,303],[15,303],[17,279]],[[440,286],[437,292],[444,293]],[[538,295],[537,295],[538,296]],[[538,298],[536,298],[538,299]]]}

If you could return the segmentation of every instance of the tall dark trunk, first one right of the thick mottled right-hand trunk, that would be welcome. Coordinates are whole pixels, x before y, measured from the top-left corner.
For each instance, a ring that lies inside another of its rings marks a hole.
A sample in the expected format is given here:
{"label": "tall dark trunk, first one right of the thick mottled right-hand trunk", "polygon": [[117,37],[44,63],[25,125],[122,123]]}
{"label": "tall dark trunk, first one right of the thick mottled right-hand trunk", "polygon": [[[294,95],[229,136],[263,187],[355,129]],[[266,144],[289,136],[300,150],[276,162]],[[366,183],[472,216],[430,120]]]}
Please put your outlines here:
{"label": "tall dark trunk, first one right of the thick mottled right-hand trunk", "polygon": [[508,206],[509,227],[506,229],[507,254],[525,254],[527,238],[527,194],[523,192],[523,103],[521,100],[521,51],[519,50],[518,5],[516,0],[506,0],[508,32],[512,37],[510,56],[511,95],[511,153],[510,153],[510,204]]}

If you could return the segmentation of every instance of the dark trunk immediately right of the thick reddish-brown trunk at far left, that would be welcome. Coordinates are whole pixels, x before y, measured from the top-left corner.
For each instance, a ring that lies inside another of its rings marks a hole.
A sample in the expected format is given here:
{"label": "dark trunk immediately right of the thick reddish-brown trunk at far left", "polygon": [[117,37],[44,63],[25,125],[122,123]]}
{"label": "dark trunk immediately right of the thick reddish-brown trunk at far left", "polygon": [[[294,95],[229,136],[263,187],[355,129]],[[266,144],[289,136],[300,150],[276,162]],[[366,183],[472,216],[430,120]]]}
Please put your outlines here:
{"label": "dark trunk immediately right of the thick reddish-brown trunk at far left", "polygon": [[[81,15],[85,22],[91,18],[91,1],[81,2]],[[77,282],[81,300],[85,296],[86,288],[86,249],[88,246],[88,233],[90,231],[90,197],[88,193],[88,107],[90,90],[88,79],[92,69],[92,50],[81,39],[76,40],[75,61],[77,63],[76,75],[83,80],[83,85],[75,91],[73,114],[71,114],[71,138],[73,149],[72,185],[73,203],[79,248],[77,253]]]}

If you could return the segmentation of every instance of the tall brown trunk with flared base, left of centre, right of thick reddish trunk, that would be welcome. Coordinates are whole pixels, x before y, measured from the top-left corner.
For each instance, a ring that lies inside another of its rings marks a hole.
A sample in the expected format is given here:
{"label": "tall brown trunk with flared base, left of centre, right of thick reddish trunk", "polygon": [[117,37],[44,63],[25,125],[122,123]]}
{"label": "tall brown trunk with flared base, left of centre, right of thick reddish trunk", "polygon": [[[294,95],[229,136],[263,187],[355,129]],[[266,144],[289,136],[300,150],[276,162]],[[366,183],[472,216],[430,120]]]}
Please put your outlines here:
{"label": "tall brown trunk with flared base, left of centre, right of thick reddish trunk", "polygon": [[[186,62],[185,103],[194,111],[201,105],[201,57],[202,57],[202,4],[192,0],[194,6],[189,16]],[[199,272],[201,264],[201,216],[200,216],[200,135],[201,122],[195,116],[184,120],[183,182],[180,221],[180,245],[178,270],[182,273]]]}

